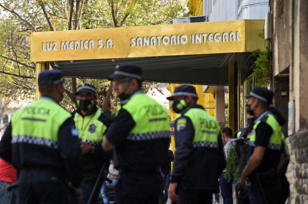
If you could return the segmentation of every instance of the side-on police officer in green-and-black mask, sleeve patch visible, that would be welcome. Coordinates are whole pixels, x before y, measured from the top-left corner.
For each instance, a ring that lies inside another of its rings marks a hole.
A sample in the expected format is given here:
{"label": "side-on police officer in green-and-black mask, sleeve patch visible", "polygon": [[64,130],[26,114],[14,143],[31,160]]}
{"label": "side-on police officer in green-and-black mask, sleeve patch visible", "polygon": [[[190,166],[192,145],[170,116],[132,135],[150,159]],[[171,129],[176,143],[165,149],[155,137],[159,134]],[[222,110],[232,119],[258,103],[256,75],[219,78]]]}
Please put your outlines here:
{"label": "side-on police officer in green-and-black mask, sleeve patch visible", "polygon": [[219,124],[196,104],[193,86],[181,85],[167,99],[173,100],[172,109],[179,113],[169,198],[179,204],[212,203],[212,194],[219,191],[218,177],[226,165]]}

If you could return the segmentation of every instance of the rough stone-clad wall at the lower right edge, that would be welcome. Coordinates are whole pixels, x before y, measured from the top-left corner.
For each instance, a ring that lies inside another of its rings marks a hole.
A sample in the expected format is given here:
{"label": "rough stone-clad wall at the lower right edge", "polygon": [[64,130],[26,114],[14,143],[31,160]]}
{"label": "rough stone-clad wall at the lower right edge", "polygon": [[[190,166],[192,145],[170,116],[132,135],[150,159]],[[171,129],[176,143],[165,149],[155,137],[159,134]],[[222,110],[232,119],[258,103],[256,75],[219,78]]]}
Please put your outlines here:
{"label": "rough stone-clad wall at the lower right edge", "polygon": [[290,163],[286,177],[292,192],[290,203],[308,204],[308,129],[287,138]]}

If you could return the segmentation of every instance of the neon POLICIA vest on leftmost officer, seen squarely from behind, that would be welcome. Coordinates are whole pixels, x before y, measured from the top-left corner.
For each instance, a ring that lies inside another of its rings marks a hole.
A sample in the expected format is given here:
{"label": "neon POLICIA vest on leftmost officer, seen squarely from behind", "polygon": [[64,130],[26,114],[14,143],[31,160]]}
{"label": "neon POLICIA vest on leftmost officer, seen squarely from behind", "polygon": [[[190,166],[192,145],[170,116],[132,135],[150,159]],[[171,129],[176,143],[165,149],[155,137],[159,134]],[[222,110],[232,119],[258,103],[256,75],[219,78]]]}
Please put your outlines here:
{"label": "neon POLICIA vest on leftmost officer, seen squarely from behind", "polygon": [[58,149],[59,129],[71,113],[44,99],[18,109],[11,118],[12,144],[28,143]]}

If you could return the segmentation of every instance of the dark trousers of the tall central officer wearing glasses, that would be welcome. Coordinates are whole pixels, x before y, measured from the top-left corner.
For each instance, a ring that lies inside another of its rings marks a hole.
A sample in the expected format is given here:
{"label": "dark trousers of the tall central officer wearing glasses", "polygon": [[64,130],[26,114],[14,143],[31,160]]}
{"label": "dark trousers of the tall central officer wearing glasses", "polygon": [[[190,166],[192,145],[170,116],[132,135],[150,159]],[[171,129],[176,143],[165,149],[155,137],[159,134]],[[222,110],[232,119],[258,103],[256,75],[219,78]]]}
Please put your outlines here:
{"label": "dark trousers of the tall central officer wearing glasses", "polygon": [[157,204],[159,196],[159,178],[156,170],[121,170],[116,185],[116,204]]}

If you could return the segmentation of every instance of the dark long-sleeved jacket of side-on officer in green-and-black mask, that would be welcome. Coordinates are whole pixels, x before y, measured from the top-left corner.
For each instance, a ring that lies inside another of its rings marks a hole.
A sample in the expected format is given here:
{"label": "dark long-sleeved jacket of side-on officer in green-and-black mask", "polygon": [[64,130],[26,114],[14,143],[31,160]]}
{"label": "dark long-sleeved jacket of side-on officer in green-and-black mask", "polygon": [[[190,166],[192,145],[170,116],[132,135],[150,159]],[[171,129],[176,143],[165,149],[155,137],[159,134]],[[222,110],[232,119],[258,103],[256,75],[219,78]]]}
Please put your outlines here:
{"label": "dark long-sleeved jacket of side-on officer in green-and-black mask", "polygon": [[[200,105],[189,105],[189,108],[201,108]],[[186,189],[219,190],[218,176],[225,168],[225,156],[220,135],[218,148],[197,147],[193,148],[195,130],[188,116],[181,116],[176,120],[186,119],[184,128],[175,131],[175,161],[171,174],[171,182],[180,182]]]}

